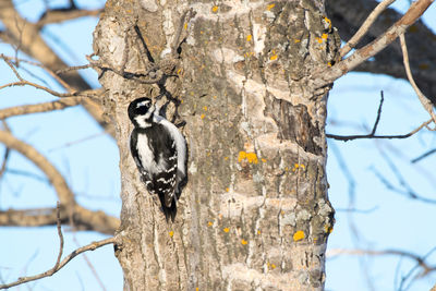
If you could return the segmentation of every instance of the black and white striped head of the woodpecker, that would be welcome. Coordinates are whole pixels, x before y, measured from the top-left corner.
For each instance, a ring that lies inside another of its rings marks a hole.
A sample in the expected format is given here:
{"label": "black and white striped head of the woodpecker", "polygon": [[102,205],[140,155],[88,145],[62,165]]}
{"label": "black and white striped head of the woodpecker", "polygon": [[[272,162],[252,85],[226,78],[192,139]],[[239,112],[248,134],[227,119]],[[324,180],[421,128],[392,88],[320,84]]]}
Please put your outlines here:
{"label": "black and white striped head of the woodpecker", "polygon": [[155,106],[152,99],[142,97],[129,105],[129,118],[135,128],[145,129],[152,126]]}

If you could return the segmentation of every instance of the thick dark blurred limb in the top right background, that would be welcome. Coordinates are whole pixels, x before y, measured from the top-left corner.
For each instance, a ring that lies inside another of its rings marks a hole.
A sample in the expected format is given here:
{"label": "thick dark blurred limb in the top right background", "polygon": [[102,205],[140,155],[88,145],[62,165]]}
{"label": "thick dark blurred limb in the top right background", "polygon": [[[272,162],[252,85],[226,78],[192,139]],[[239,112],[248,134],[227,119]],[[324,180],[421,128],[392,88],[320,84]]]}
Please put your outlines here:
{"label": "thick dark blurred limb in the top right background", "polygon": [[[335,0],[326,1],[326,10],[331,23],[338,28],[341,39],[347,41],[359,31],[367,15],[378,4],[375,0]],[[402,14],[397,10],[386,9],[355,47],[362,48],[370,44],[401,17]],[[436,70],[436,50],[434,49],[436,47],[436,35],[424,22],[419,20],[409,27],[405,39],[409,53],[413,56],[410,65],[416,85],[436,106],[436,75],[434,74]],[[407,80],[401,48],[397,41],[373,56],[371,61],[365,61],[353,70]]]}

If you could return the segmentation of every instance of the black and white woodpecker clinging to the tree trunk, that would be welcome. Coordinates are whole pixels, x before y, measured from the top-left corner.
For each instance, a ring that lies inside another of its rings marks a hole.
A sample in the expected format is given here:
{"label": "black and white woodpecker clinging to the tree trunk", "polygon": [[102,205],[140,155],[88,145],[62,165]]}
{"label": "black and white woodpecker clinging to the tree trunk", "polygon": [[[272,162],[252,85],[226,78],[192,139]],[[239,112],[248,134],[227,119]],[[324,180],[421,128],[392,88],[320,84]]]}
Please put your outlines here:
{"label": "black and white woodpecker clinging to the tree trunk", "polygon": [[174,221],[177,201],[186,184],[186,141],[173,123],[159,116],[149,98],[133,100],[128,112],[135,126],[130,150],[141,180],[149,193],[159,196],[167,221],[169,217]]}

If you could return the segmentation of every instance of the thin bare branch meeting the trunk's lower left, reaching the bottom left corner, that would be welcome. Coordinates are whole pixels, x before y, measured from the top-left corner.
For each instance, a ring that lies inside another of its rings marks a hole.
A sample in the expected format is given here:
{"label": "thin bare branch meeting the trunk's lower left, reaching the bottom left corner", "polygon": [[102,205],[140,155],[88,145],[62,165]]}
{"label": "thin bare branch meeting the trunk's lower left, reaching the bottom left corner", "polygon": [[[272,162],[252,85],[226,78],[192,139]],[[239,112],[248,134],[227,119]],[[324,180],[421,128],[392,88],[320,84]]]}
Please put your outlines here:
{"label": "thin bare branch meeting the trunk's lower left, reaching the bottom left corner", "polygon": [[31,282],[31,281],[35,281],[35,280],[41,279],[41,278],[52,276],[58,270],[63,268],[71,259],[73,259],[77,255],[80,255],[84,252],[87,252],[87,251],[95,251],[104,245],[113,244],[113,243],[117,243],[117,240],[114,237],[106,239],[106,240],[101,240],[98,242],[92,242],[90,244],[87,244],[85,246],[78,247],[75,251],[73,251],[71,254],[69,254],[66,257],[64,257],[61,263],[57,264],[53,268],[51,268],[45,272],[41,272],[39,275],[19,278],[15,282],[12,282],[12,283],[0,284],[0,289],[8,289],[8,288],[11,288],[14,286],[19,286],[22,283],[26,283],[26,282]]}

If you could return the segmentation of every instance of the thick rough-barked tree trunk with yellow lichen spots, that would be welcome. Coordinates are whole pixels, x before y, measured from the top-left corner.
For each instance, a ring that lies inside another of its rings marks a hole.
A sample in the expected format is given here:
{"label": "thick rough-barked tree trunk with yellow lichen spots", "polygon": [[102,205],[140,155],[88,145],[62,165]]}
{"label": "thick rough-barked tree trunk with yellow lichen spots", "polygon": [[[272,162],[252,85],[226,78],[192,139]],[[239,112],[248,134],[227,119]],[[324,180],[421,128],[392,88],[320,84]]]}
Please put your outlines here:
{"label": "thick rough-barked tree trunk with yellow lichen spots", "polygon": [[[334,63],[338,36],[323,0],[216,4],[109,0],[95,31],[120,148],[124,289],[322,290],[329,88],[311,73]],[[130,101],[159,94],[190,154],[174,223],[129,151]]]}

